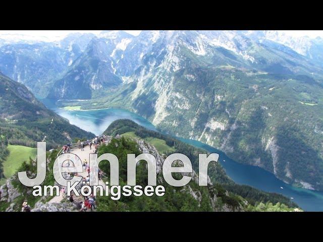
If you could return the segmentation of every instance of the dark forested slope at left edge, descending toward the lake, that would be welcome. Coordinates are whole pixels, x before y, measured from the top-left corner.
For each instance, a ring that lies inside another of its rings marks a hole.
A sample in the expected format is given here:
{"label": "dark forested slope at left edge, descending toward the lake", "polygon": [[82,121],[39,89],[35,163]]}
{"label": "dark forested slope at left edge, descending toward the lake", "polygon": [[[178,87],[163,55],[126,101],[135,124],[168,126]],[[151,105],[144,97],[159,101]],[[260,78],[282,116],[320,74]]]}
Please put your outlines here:
{"label": "dark forested slope at left edge, descending toward the lake", "polygon": [[10,144],[36,147],[37,141],[44,140],[51,149],[74,137],[94,137],[47,109],[24,85],[1,74],[0,96],[0,134]]}

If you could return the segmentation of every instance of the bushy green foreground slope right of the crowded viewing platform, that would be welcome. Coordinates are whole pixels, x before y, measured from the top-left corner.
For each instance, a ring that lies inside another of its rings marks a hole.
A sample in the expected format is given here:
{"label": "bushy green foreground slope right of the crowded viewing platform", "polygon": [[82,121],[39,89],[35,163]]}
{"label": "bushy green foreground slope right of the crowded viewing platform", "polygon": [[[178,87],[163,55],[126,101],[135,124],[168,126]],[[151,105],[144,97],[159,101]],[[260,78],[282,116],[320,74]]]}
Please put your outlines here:
{"label": "bushy green foreground slope right of the crowded viewing platform", "polygon": [[[119,158],[120,165],[120,184],[126,185],[126,169],[127,153],[139,155],[138,145],[132,141],[131,138],[122,137],[121,139],[113,139],[107,146],[99,148],[98,155],[103,153],[113,153]],[[187,153],[186,153],[187,154]],[[194,157],[196,159],[196,157]],[[109,180],[109,162],[103,161],[100,164],[100,169],[107,173],[107,180]],[[147,170],[146,166],[140,163],[136,168],[136,184],[141,186],[147,185]],[[173,174],[180,178],[180,174]],[[261,202],[249,204],[246,206],[245,200],[234,193],[227,192],[220,183],[214,186],[199,187],[198,184],[191,180],[185,187],[171,187],[163,179],[159,173],[157,175],[158,185],[165,187],[166,192],[162,197],[152,195],[151,197],[121,197],[118,201],[113,201],[106,196],[98,196],[97,211],[140,211],[140,212],[158,212],[158,211],[252,211],[262,209],[262,211],[293,211],[294,209],[284,204],[266,203],[263,208]],[[191,190],[191,192],[189,192]],[[191,193],[198,194],[200,201],[194,199]],[[212,205],[212,198],[216,197],[216,201]],[[295,206],[295,204],[293,204]]]}

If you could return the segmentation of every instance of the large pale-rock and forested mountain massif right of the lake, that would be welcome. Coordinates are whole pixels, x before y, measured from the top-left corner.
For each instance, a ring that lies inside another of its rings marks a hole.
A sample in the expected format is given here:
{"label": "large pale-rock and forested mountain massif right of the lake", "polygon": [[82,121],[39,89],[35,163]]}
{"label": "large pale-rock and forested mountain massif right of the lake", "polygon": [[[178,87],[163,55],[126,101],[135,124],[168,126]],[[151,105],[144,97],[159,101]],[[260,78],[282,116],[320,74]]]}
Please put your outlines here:
{"label": "large pale-rock and forested mountain massif right of the lake", "polygon": [[[323,189],[320,68],[305,65],[306,56],[287,46],[260,43],[245,33],[155,36],[146,38],[150,48],[131,48],[141,65],[96,106],[126,107],[163,131],[221,148],[290,184]],[[221,45],[224,40],[230,41]],[[282,59],[287,55],[288,61]]]}

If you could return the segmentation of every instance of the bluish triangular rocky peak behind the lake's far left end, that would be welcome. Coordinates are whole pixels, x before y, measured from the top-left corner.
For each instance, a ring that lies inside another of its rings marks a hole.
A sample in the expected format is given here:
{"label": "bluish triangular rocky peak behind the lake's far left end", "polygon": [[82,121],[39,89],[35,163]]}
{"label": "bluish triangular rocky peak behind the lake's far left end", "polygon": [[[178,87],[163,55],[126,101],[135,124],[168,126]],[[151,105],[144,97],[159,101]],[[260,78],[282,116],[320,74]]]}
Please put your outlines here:
{"label": "bluish triangular rocky peak behind the lake's far left end", "polygon": [[69,71],[53,83],[48,97],[56,99],[90,99],[92,91],[115,88],[122,83],[115,75],[111,46],[105,40],[92,39]]}

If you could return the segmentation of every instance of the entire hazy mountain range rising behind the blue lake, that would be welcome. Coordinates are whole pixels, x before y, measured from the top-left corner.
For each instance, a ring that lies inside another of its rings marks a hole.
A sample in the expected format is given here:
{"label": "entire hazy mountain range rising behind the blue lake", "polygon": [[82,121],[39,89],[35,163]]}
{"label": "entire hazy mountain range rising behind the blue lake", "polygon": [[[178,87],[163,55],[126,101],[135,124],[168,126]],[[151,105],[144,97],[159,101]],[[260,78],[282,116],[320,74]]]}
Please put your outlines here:
{"label": "entire hazy mountain range rising behind the blue lake", "polygon": [[321,38],[103,31],[0,45],[0,71],[36,95],[83,109],[126,108],[161,131],[323,190]]}

